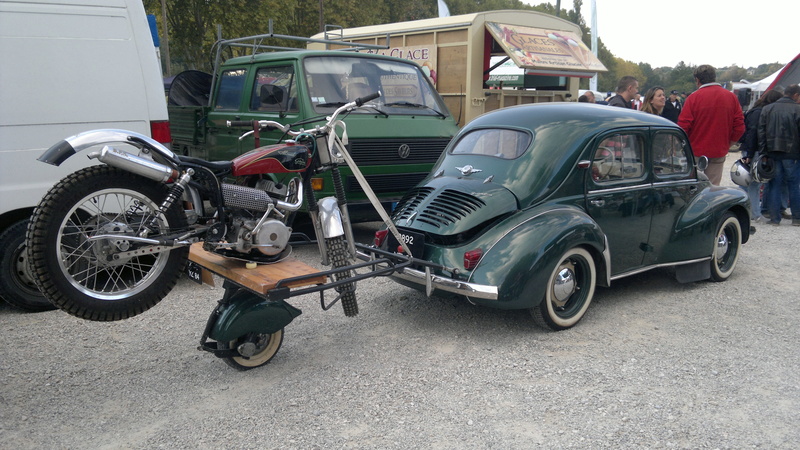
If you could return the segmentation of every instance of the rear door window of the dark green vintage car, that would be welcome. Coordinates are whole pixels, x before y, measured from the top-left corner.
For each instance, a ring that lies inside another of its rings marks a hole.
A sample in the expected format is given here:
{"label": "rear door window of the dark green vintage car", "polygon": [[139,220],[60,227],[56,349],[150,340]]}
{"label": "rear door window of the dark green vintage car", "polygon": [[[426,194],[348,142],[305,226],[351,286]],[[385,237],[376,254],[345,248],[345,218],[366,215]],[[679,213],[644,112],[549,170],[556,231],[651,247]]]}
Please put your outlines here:
{"label": "rear door window of the dark green vintage car", "polygon": [[642,178],[643,148],[639,134],[615,134],[603,139],[592,159],[592,179],[602,184]]}

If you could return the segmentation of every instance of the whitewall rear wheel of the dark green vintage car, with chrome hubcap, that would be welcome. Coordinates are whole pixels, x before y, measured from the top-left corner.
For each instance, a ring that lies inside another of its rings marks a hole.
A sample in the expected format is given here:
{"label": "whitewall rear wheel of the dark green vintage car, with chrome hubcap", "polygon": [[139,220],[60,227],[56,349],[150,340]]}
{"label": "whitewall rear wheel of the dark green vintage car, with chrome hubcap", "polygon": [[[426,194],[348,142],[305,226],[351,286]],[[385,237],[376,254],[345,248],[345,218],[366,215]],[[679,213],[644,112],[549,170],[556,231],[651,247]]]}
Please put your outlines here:
{"label": "whitewall rear wheel of the dark green vintage car, with chrome hubcap", "polygon": [[547,290],[531,314],[540,325],[560,331],[575,326],[594,297],[597,270],[583,248],[570,249],[559,259],[547,281]]}

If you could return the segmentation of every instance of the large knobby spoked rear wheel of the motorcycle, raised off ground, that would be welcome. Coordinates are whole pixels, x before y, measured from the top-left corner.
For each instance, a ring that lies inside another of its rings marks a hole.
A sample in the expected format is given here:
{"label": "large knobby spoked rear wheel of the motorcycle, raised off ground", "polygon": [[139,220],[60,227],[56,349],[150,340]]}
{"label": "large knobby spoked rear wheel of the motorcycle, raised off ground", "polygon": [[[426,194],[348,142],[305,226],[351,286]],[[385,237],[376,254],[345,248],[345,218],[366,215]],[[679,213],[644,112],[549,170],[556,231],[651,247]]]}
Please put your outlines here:
{"label": "large knobby spoked rear wheel of the motorcycle, raised off ground", "polygon": [[[158,251],[150,239],[186,229],[179,204],[164,215],[167,187],[108,166],[79,170],[42,198],[27,232],[36,284],[60,309],[96,321],[133,317],[175,286],[189,248]],[[97,238],[97,236],[105,236]]]}

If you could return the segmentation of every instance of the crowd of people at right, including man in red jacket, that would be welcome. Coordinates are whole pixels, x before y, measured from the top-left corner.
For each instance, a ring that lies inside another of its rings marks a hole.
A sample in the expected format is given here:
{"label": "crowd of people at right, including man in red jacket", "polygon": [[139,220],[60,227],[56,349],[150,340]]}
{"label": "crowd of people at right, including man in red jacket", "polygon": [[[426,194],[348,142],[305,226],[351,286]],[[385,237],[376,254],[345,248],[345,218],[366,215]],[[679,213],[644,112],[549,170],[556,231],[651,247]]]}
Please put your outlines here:
{"label": "crowd of people at right, including man in red jacket", "polygon": [[772,225],[791,219],[792,225],[800,226],[800,207],[791,207],[800,205],[800,86],[764,92],[745,115],[736,95],[716,82],[714,67],[698,66],[693,77],[697,90],[688,96],[673,90],[667,97],[666,90],[656,86],[641,97],[639,81],[625,76],[605,101],[598,101],[592,91],[578,101],[637,109],[678,124],[695,158],[708,158],[705,173],[715,185],[722,181],[728,152],[739,143],[746,167],[758,159],[771,173],[768,183],[743,186],[750,196],[751,219]]}

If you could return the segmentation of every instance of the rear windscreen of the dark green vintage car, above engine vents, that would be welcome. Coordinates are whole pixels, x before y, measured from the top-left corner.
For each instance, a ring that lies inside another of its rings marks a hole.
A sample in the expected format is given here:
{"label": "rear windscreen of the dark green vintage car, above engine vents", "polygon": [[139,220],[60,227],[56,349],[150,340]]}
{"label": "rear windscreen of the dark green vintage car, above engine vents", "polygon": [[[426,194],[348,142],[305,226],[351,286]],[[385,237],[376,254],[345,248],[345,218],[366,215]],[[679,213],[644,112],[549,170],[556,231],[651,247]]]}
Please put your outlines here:
{"label": "rear windscreen of the dark green vintage car, above engine vents", "polygon": [[478,129],[462,136],[450,153],[516,159],[530,147],[531,139],[529,133],[520,130]]}

